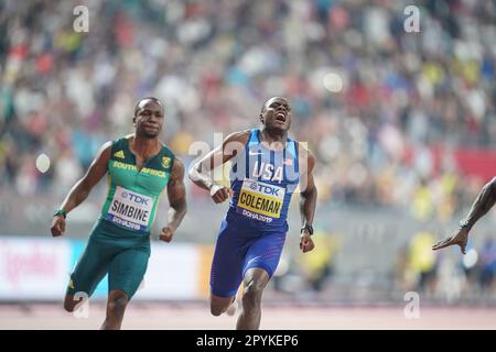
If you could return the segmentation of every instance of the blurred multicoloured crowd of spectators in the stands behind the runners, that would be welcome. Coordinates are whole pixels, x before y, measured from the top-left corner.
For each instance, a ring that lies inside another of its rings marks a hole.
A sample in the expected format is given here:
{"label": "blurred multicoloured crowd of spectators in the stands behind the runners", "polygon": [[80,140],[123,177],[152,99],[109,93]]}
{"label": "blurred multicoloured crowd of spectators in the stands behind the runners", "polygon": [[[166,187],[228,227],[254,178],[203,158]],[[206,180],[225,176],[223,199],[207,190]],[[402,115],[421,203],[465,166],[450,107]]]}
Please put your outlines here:
{"label": "blurred multicoloured crowd of spectators in the stands behind the runners", "polygon": [[[88,33],[73,30],[78,4]],[[416,1],[420,33],[407,33],[408,4],[2,1],[0,189],[65,194],[104,142],[132,131],[139,97],[165,102],[165,140],[187,164],[192,142],[257,125],[278,95],[317,157],[321,205],[452,220],[487,180],[454,153],[496,146],[496,7]]]}

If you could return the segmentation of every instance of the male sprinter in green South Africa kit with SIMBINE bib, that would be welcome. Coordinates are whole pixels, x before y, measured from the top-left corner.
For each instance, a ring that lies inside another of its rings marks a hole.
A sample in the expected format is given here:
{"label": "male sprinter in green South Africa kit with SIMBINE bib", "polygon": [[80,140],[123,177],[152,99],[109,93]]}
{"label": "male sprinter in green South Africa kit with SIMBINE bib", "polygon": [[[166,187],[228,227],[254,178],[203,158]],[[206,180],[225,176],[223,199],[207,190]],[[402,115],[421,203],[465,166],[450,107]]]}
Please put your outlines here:
{"label": "male sprinter in green South Africa kit with SIMBINE bib", "polygon": [[86,175],[55,212],[51,232],[65,231],[65,218],[107,174],[108,193],[101,213],[77,262],[64,299],[74,311],[108,274],[107,316],[101,329],[120,329],[127,304],[140,286],[150,257],[150,235],[161,194],[166,189],[169,219],[159,239],[170,242],[186,213],[184,165],[159,140],[164,111],[157,98],[136,105],[136,131],[103,145]]}

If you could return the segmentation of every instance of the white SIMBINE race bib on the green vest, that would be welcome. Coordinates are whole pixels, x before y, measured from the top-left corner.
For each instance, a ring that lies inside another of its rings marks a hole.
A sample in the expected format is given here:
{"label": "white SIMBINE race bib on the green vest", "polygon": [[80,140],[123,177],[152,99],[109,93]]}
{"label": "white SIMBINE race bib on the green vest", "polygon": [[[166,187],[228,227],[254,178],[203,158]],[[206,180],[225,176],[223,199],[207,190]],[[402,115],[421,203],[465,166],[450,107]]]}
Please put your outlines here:
{"label": "white SIMBINE race bib on the green vest", "polygon": [[106,220],[131,230],[147,231],[153,201],[152,197],[117,186]]}

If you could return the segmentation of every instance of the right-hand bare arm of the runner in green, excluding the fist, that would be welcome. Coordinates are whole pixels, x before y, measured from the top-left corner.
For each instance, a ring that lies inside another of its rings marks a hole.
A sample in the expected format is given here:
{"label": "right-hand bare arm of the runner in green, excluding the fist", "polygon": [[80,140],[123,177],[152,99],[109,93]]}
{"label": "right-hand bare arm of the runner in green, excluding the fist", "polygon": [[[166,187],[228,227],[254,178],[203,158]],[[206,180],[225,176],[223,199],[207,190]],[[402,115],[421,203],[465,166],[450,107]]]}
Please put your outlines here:
{"label": "right-hand bare arm of the runner in green, excluding the fist", "polygon": [[184,187],[184,164],[177,157],[172,166],[168,184],[168,198],[171,205],[168,213],[168,227],[175,231],[186,215],[186,189]]}

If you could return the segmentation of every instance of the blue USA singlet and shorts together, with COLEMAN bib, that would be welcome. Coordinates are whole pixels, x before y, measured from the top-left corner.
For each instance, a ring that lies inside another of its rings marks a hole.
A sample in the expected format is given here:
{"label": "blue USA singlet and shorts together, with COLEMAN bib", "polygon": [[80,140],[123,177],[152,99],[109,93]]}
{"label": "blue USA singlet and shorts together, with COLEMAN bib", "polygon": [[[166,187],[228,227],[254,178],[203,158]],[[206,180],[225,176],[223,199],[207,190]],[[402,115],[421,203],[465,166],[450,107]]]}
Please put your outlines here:
{"label": "blue USA singlet and shorts together, with COLEMAN bib", "polygon": [[233,161],[233,198],[217,239],[211,289],[220,297],[236,295],[250,267],[276,271],[288,232],[288,208],[298,186],[298,144],[287,140],[276,152],[250,131],[244,153]]}

